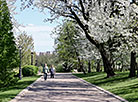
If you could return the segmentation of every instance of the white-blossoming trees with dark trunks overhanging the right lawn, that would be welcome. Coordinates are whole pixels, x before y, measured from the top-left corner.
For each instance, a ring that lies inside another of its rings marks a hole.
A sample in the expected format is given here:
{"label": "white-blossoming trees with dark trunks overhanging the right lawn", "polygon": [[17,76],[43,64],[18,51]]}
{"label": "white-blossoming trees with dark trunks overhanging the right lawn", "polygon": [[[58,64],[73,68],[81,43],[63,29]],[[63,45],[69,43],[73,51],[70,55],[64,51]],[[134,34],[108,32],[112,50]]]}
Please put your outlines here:
{"label": "white-blossoming trees with dark trunks overhanging the right lawn", "polygon": [[[28,1],[33,5],[33,0]],[[25,4],[25,3],[23,3]],[[86,39],[98,50],[107,77],[114,76],[115,57],[118,52],[131,53],[130,77],[135,76],[137,51],[136,0],[38,0],[41,10],[50,10],[54,21],[64,17],[75,22]],[[125,50],[124,50],[125,49]]]}

